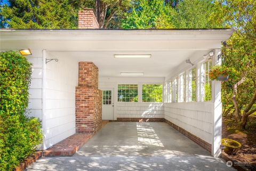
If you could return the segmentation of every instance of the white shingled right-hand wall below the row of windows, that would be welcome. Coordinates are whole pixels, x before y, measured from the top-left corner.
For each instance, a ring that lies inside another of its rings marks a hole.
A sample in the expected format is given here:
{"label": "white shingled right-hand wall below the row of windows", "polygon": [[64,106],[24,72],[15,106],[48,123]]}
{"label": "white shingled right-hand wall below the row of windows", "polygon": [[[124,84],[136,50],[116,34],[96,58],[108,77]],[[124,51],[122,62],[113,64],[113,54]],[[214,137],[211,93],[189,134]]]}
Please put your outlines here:
{"label": "white shingled right-hand wall below the row of windows", "polygon": [[212,144],[214,103],[164,103],[164,118]]}

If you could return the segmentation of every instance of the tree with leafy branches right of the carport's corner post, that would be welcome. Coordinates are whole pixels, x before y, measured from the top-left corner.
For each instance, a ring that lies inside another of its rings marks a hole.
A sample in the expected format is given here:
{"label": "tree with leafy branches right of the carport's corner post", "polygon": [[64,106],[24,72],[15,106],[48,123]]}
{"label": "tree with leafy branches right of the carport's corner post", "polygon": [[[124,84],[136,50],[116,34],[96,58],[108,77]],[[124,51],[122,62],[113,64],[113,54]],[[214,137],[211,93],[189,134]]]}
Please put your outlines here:
{"label": "tree with leafy branches right of the carport's corner post", "polygon": [[[224,3],[225,2],[225,3]],[[213,19],[236,32],[222,47],[223,65],[234,67],[239,77],[222,83],[224,107],[235,108],[240,128],[245,128],[247,118],[256,111],[256,1],[226,0],[215,2]],[[243,109],[243,111],[241,111]]]}

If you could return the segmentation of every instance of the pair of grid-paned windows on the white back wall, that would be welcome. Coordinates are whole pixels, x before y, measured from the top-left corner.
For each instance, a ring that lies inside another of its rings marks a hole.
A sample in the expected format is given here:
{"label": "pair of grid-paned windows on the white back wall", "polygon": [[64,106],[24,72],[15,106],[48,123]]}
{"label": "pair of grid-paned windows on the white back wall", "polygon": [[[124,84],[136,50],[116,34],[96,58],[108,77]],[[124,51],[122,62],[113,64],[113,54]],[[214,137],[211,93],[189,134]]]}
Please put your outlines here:
{"label": "pair of grid-paned windows on the white back wall", "polygon": [[[142,102],[162,102],[162,84],[143,84]],[[138,102],[138,84],[118,84],[118,102]]]}

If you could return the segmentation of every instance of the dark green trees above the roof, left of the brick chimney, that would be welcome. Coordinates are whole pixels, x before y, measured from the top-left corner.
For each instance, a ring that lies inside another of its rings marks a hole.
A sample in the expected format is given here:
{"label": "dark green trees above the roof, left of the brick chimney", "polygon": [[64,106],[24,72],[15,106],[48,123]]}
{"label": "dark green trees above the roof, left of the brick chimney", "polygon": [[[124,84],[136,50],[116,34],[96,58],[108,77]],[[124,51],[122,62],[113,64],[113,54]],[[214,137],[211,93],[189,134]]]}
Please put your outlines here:
{"label": "dark green trees above the roof, left of the brick chimney", "polygon": [[[1,7],[2,22],[18,29],[75,29],[77,11],[69,0],[17,0]],[[3,23],[2,23],[2,26]]]}

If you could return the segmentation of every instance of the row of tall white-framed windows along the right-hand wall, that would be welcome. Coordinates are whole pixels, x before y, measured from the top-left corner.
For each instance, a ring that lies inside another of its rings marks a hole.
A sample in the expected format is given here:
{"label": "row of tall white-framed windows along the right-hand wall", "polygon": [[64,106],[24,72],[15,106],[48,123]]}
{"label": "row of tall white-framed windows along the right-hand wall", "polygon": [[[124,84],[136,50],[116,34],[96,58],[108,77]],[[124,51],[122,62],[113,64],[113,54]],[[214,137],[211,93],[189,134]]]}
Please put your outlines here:
{"label": "row of tall white-framed windows along the right-hand wall", "polygon": [[211,101],[212,82],[209,78],[211,66],[212,61],[208,60],[201,64],[198,72],[196,68],[192,68],[167,82],[165,84],[165,101]]}

